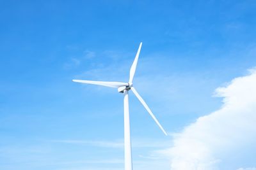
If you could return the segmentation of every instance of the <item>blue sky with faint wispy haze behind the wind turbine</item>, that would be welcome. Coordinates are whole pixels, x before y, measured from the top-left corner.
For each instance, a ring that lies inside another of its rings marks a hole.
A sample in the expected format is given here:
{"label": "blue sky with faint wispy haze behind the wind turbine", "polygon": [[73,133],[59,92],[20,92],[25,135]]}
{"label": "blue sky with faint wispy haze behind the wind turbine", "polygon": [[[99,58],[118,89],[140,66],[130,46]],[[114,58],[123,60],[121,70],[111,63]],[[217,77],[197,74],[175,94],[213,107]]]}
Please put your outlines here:
{"label": "blue sky with faint wispy haze behind the wind turbine", "polygon": [[[0,1],[0,169],[122,169],[128,81],[169,134],[221,108],[214,90],[256,66],[255,1]],[[134,169],[172,147],[131,95]],[[247,148],[248,149],[248,148]],[[250,150],[250,149],[249,149]],[[226,169],[255,167],[250,154]],[[161,167],[159,167],[161,165]]]}

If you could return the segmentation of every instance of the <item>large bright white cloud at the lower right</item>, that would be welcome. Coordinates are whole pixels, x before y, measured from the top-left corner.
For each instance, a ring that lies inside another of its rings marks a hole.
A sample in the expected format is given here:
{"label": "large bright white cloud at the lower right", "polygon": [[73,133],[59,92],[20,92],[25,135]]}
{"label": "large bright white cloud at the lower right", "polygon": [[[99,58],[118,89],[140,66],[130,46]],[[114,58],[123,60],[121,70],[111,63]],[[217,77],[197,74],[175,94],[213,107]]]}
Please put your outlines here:
{"label": "large bright white cloud at the lower right", "polygon": [[172,148],[162,151],[170,155],[173,170],[219,169],[225,159],[256,141],[256,71],[218,88],[216,96],[224,97],[220,110],[174,134]]}

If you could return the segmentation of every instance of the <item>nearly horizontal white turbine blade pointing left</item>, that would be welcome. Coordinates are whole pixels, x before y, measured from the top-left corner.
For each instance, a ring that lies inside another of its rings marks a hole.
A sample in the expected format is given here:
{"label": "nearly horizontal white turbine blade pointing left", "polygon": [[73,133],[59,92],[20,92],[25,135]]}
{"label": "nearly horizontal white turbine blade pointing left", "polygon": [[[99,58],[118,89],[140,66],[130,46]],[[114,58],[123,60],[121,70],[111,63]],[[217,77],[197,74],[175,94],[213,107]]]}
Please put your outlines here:
{"label": "nearly horizontal white turbine blade pointing left", "polygon": [[102,85],[106,87],[113,87],[118,88],[121,86],[128,86],[128,83],[122,83],[122,82],[115,82],[115,81],[90,81],[90,80],[72,80],[77,83],[86,83],[86,84],[92,84],[92,85]]}

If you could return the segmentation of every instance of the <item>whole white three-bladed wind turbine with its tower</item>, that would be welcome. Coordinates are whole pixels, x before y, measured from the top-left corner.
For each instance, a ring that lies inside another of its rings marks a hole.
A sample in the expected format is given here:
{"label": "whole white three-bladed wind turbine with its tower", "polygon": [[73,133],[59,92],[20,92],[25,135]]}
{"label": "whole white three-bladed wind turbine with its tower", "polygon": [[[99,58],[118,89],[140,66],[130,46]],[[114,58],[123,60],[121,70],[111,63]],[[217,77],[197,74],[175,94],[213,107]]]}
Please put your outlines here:
{"label": "whole white three-bladed wind turbine with its tower", "polygon": [[136,66],[138,63],[138,58],[140,55],[141,50],[140,43],[138,52],[136,53],[134,62],[132,63],[131,69],[130,69],[130,78],[128,83],[123,82],[116,82],[116,81],[90,81],[90,80],[72,80],[78,83],[86,83],[86,84],[93,84],[93,85],[102,85],[106,87],[113,87],[118,90],[120,93],[124,93],[124,164],[125,164],[125,170],[132,170],[132,150],[131,150],[131,132],[130,132],[130,116],[129,116],[129,96],[128,92],[129,90],[132,90],[132,92],[135,94],[135,96],[139,99],[141,104],[145,107],[145,109],[148,111],[150,116],[154,119],[156,124],[160,127],[160,129],[164,132],[164,134],[167,136],[166,131],[164,131],[161,124],[159,124],[158,120],[148,108],[148,105],[145,103],[145,101],[142,99],[140,94],[135,90],[135,88],[132,85],[132,80],[136,71]]}

